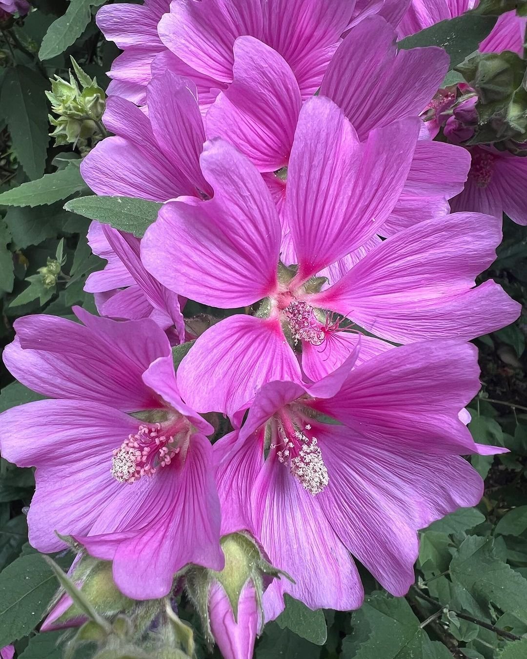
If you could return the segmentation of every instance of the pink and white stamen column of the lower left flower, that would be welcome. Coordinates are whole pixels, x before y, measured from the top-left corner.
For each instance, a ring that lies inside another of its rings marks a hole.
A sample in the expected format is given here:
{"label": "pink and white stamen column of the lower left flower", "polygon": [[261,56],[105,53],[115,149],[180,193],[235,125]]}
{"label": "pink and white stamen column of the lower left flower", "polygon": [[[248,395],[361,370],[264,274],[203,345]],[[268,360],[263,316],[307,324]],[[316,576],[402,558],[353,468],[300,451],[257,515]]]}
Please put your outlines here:
{"label": "pink and white stamen column of the lower left flower", "polygon": [[188,422],[180,417],[169,430],[160,423],[139,426],[136,434],[113,451],[111,474],[120,483],[134,483],[141,476],[153,476],[158,469],[167,467],[180,453]]}

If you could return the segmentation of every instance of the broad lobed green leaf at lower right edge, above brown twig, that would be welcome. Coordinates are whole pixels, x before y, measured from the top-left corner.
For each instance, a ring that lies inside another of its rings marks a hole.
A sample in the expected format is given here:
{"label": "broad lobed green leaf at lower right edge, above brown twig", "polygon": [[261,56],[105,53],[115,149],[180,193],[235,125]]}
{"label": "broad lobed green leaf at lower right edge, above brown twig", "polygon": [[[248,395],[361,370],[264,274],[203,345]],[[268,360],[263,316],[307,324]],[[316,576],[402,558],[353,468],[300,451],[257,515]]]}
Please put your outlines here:
{"label": "broad lobed green leaf at lower right edge, above brown twig", "polygon": [[476,606],[490,617],[490,607],[527,621],[527,580],[495,556],[494,539],[468,536],[453,556],[450,575]]}

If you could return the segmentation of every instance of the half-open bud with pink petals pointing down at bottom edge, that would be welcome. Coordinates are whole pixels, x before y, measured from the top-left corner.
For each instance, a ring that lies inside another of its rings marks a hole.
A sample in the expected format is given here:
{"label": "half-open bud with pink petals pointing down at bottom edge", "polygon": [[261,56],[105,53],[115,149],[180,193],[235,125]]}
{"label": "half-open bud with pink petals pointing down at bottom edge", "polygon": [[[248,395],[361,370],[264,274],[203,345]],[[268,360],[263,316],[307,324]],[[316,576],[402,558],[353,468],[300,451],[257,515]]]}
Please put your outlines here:
{"label": "half-open bud with pink petals pointing down at bottom edge", "polygon": [[256,636],[264,626],[262,594],[283,573],[265,560],[246,535],[223,536],[221,548],[223,570],[192,567],[186,573],[186,589],[202,617],[208,640],[217,643],[223,657],[251,659]]}

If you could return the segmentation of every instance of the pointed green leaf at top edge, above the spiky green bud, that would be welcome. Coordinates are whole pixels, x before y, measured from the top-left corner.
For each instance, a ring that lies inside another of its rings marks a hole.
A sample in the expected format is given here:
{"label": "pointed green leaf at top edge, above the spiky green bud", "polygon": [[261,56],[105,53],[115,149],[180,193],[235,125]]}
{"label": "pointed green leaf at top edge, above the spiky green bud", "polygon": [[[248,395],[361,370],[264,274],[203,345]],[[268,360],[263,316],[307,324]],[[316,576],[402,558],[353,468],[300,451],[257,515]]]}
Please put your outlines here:
{"label": "pointed green leaf at top edge, above the spiky green bud", "polygon": [[51,59],[70,47],[92,19],[92,7],[100,7],[106,0],[70,0],[66,13],[49,26],[42,40],[38,56]]}

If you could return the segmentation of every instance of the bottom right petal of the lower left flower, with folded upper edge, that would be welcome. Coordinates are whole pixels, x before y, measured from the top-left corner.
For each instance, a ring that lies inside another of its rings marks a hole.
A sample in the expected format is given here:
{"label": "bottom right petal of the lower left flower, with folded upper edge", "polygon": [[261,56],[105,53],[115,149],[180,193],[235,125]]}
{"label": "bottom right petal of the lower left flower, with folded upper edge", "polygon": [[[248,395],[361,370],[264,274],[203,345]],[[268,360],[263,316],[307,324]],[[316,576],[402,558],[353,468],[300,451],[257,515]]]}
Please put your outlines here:
{"label": "bottom right petal of the lower left flower, with folded upper edge", "polygon": [[121,529],[96,534],[94,527],[90,536],[76,536],[92,556],[113,559],[113,578],[128,597],[147,600],[167,595],[175,573],[188,563],[223,568],[211,459],[210,442],[194,434],[182,467],[161,469],[152,478],[129,486],[128,499],[131,487],[142,480],[152,481],[148,498],[130,506]]}

